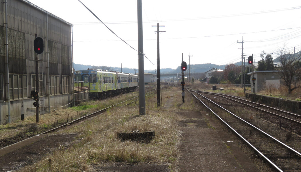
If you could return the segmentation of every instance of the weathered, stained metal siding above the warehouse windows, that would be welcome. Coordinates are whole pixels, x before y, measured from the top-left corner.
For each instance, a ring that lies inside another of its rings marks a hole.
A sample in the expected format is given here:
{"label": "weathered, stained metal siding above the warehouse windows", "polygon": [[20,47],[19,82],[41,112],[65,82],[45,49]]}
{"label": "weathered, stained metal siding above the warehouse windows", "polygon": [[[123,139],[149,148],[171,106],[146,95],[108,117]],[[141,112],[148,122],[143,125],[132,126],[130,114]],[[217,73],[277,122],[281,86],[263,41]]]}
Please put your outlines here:
{"label": "weathered, stained metal siding above the warehouse windows", "polygon": [[[8,1],[8,44],[9,73],[27,73],[28,88],[31,87],[30,75],[35,73],[33,41],[35,33],[46,41],[46,13],[20,0]],[[5,27],[4,5],[0,4],[0,72],[4,70]],[[48,15],[50,75],[71,74],[71,28],[70,25]],[[46,42],[44,43],[46,46]],[[44,60],[39,63],[40,70],[46,74],[46,47],[38,55]],[[63,66],[62,66],[63,65]],[[4,72],[4,71],[3,71]],[[1,73],[3,73],[1,72]],[[60,79],[61,80],[61,79]],[[70,84],[71,85],[71,81]],[[30,89],[28,89],[30,90]]]}

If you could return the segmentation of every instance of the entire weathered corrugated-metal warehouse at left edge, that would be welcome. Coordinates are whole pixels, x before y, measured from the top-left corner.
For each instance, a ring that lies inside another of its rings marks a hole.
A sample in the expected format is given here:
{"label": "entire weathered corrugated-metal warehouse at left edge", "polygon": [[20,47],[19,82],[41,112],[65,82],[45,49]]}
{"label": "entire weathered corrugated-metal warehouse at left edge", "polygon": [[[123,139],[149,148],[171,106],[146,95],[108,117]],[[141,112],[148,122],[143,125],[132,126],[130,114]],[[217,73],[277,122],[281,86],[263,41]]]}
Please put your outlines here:
{"label": "entire weathered corrugated-metal warehouse at left edge", "polygon": [[40,113],[48,112],[49,105],[60,107],[71,103],[73,25],[27,0],[2,2],[4,3],[0,3],[0,124],[21,119],[21,114],[23,117],[36,113],[34,100],[30,97],[30,92],[35,90],[36,35],[44,40],[44,52],[38,55]]}

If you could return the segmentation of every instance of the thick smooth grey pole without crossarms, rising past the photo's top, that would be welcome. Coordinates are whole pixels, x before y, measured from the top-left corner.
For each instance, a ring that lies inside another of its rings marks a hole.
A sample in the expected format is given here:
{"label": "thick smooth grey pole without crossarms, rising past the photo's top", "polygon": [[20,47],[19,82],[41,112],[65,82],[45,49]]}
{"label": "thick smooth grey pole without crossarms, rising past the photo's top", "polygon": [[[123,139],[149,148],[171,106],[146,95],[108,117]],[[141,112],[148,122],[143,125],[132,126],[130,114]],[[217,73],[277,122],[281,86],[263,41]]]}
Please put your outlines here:
{"label": "thick smooth grey pole without crossarms, rising past the photo's top", "polygon": [[138,21],[138,72],[139,72],[139,115],[145,115],[144,90],[144,59],[143,59],[143,28],[142,28],[142,2],[137,0]]}

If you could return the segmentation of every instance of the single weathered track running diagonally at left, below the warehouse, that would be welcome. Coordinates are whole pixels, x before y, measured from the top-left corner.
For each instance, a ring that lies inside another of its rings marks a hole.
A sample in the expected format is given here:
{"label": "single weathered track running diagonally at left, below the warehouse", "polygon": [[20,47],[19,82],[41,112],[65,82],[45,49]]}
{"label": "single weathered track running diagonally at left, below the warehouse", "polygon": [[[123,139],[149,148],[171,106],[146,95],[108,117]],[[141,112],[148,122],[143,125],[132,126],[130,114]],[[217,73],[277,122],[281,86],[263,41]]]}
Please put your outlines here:
{"label": "single weathered track running diagonally at left, below the warehouse", "polygon": [[[145,96],[151,95],[151,94],[152,94],[154,91],[156,91],[156,90],[157,90],[157,89],[154,89],[154,90],[151,90],[151,91],[145,93]],[[78,123],[79,121],[82,121],[82,120],[91,118],[92,116],[99,115],[99,114],[105,112],[106,110],[108,110],[108,109],[110,109],[110,108],[118,107],[118,106],[120,106],[120,107],[126,106],[126,105],[129,105],[129,104],[131,104],[131,103],[134,103],[135,101],[138,101],[138,100],[139,100],[139,96],[132,97],[132,98],[130,98],[130,99],[128,99],[128,100],[122,101],[122,102],[120,102],[120,103],[118,103],[118,104],[114,104],[114,105],[112,105],[112,106],[109,106],[109,107],[106,107],[106,108],[104,108],[104,109],[98,110],[98,111],[96,111],[96,112],[90,113],[90,114],[88,114],[88,115],[82,116],[82,117],[80,117],[80,118],[78,118],[78,119],[74,119],[74,120],[72,120],[71,122],[68,122],[68,123],[65,123],[65,124],[63,124],[63,125],[61,125],[61,126],[58,126],[58,127],[52,128],[52,129],[49,129],[49,130],[47,130],[47,131],[45,131],[45,132],[41,132],[41,133],[39,133],[39,134],[37,134],[37,135],[34,135],[34,136],[32,136],[32,137],[29,137],[29,138],[25,138],[25,137],[24,137],[24,139],[22,139],[22,140],[20,140],[20,141],[18,141],[18,142],[9,143],[9,144],[6,145],[5,147],[0,148],[0,156],[3,155],[3,154],[6,154],[6,153],[8,153],[8,152],[14,151],[14,150],[16,150],[17,148],[23,147],[24,145],[28,145],[28,144],[30,144],[32,141],[36,141],[35,138],[39,138],[39,137],[41,137],[42,135],[45,135],[45,134],[47,134],[47,133],[54,132],[54,131],[56,131],[56,130],[58,130],[58,129],[61,129],[61,128],[64,128],[64,127],[66,127],[66,126],[73,125],[74,123]],[[32,141],[31,141],[31,140],[32,140]]]}

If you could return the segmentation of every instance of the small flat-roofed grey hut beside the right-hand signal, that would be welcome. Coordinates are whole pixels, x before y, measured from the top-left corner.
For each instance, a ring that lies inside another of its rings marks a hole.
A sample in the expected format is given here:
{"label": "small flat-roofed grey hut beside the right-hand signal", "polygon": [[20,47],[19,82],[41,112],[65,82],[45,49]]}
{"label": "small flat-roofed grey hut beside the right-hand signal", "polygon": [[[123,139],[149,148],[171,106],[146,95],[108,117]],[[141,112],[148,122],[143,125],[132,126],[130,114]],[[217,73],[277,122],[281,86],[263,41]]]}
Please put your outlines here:
{"label": "small flat-roofed grey hut beside the right-hand signal", "polygon": [[[253,72],[248,73],[251,79],[251,88],[253,89],[252,78]],[[279,71],[254,71],[255,93],[269,88],[280,88]]]}

